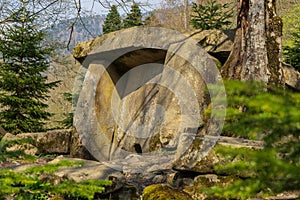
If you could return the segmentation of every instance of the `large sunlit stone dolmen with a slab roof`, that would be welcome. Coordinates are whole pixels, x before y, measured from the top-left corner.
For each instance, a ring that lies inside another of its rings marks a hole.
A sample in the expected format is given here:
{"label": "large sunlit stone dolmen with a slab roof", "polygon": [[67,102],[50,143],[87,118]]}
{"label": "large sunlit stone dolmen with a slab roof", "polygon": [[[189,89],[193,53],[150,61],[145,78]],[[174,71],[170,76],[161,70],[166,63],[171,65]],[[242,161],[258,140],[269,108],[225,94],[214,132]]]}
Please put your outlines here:
{"label": "large sunlit stone dolmen with a slab roof", "polygon": [[83,65],[75,127],[98,160],[192,144],[182,134],[193,138],[203,125],[206,83],[216,80],[217,69],[199,40],[131,28],[81,43],[73,55]]}

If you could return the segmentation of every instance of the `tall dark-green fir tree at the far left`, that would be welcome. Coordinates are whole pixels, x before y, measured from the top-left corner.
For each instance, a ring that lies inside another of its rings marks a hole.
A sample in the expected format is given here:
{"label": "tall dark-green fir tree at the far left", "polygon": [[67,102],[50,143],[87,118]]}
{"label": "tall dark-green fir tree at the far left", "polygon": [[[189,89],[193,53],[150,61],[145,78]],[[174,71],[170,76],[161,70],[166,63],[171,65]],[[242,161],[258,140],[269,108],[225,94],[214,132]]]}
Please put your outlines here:
{"label": "tall dark-green fir tree at the far left", "polygon": [[0,126],[11,133],[43,130],[47,93],[58,82],[47,83],[51,48],[43,45],[45,34],[38,29],[23,0],[10,21],[0,27]]}

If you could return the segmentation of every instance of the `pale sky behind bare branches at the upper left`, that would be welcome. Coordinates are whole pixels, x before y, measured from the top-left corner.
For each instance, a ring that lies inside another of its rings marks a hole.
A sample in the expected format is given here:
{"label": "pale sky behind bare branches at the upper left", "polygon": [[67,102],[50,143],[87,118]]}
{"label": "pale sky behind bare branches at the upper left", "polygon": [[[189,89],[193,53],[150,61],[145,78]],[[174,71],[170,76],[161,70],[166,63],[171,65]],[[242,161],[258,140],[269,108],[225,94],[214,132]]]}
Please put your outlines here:
{"label": "pale sky behind bare branches at the upper left", "polygon": [[[11,22],[11,16],[18,12],[17,5],[20,2],[21,0],[1,0],[0,25]],[[125,13],[128,13],[129,7],[133,2],[131,0],[93,0],[91,1],[91,9],[93,9],[95,4],[100,4],[104,9],[109,9],[112,4],[115,4],[121,7]],[[86,27],[83,20],[83,17],[87,13],[90,14],[90,12],[83,8],[81,0],[27,0],[26,3],[30,5],[33,15],[39,15],[40,28],[49,28],[54,24],[68,22],[68,24],[65,24],[66,30],[69,30],[68,48],[76,24],[82,26],[90,36],[96,37]],[[143,8],[147,6],[147,2],[140,5]],[[73,18],[71,22],[66,20],[70,18]]]}

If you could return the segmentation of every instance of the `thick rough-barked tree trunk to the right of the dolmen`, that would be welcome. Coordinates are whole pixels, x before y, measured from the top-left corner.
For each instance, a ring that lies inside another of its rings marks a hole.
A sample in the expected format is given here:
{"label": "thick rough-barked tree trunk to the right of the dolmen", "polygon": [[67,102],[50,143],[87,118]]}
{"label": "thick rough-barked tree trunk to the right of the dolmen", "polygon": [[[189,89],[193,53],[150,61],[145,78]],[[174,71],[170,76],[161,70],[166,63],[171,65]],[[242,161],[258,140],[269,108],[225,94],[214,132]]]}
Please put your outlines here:
{"label": "thick rough-barked tree trunk to the right of the dolmen", "polygon": [[234,46],[222,68],[223,77],[282,85],[282,21],[275,0],[237,0]]}

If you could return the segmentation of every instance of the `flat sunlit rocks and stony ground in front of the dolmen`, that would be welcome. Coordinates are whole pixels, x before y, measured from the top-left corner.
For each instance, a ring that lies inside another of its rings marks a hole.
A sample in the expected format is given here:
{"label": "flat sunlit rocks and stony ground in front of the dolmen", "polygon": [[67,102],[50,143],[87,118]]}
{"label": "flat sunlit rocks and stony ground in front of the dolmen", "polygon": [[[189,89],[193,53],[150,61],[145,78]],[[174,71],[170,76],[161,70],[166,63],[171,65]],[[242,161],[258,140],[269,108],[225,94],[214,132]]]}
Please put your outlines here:
{"label": "flat sunlit rocks and stony ground in front of the dolmen", "polygon": [[[34,164],[28,164],[28,162],[21,160],[6,161],[1,163],[0,169],[8,168],[13,169],[14,171],[22,171],[32,166],[45,165],[49,163],[53,164],[61,160],[83,161],[85,162],[83,167],[63,168],[54,173],[53,177],[67,177],[70,180],[78,182],[91,179],[113,180],[114,188],[112,188],[109,193],[102,195],[102,197],[110,197],[111,199],[119,200],[140,199],[147,188],[150,188],[150,191],[153,190],[152,192],[154,193],[170,190],[169,192],[172,192],[174,195],[184,195],[185,199],[206,199],[205,195],[197,191],[197,184],[202,184],[204,181],[210,183],[222,181],[222,179],[215,174],[177,171],[170,167],[155,169],[151,167],[151,159],[148,159],[148,167],[137,166],[139,165],[139,161],[143,163],[144,159],[145,158],[142,156],[134,155],[131,159],[123,160],[122,164],[128,164],[123,166],[124,169],[127,169],[126,171],[118,171],[110,168],[106,165],[109,163],[103,164],[96,161],[70,158],[68,156],[39,158],[34,162]],[[121,160],[119,164],[121,164]],[[143,167],[145,167],[144,172],[139,171]],[[270,197],[269,199],[297,199],[299,195],[299,192],[285,192],[278,196]],[[258,200],[262,198],[256,199]]]}

